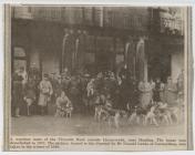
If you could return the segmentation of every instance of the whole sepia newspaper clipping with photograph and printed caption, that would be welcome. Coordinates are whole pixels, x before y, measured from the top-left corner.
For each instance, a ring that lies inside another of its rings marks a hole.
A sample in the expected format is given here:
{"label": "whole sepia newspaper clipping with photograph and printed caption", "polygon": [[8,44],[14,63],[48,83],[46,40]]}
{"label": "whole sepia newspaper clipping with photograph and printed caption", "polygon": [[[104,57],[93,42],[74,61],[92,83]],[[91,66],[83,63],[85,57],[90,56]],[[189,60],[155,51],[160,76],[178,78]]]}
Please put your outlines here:
{"label": "whole sepia newspaper clipping with photograph and printed caption", "polygon": [[186,151],[191,8],[4,6],[4,151]]}

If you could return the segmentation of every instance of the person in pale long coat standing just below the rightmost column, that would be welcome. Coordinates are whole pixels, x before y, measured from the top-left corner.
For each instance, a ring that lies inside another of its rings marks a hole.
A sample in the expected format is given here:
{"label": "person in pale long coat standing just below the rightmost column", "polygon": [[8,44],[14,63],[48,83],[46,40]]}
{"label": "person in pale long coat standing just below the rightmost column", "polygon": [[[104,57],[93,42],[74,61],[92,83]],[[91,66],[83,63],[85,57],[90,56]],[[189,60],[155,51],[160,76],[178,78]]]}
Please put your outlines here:
{"label": "person in pale long coat standing just below the rightmost column", "polygon": [[148,82],[140,82],[140,103],[143,108],[147,108],[152,101],[152,86]]}

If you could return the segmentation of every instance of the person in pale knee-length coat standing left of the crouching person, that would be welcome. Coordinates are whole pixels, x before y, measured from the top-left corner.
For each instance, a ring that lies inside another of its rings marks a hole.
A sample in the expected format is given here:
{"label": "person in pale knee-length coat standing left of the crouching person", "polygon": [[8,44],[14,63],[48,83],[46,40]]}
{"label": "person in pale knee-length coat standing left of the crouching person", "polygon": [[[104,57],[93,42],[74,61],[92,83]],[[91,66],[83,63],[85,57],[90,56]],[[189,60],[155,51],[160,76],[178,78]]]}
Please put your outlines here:
{"label": "person in pale knee-length coat standing left of the crouching person", "polygon": [[49,81],[48,74],[44,74],[43,80],[40,82],[40,96],[38,105],[41,107],[41,114],[44,114],[44,108],[48,105],[48,102],[51,100],[51,95],[53,93],[52,85]]}

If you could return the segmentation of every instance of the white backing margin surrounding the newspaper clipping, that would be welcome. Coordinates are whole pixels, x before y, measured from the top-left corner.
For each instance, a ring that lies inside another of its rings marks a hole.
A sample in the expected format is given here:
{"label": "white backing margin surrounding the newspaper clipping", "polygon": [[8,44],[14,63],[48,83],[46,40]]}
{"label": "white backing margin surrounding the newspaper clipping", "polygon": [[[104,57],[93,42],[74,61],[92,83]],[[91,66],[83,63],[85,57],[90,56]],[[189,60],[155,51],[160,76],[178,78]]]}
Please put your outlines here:
{"label": "white backing margin surrounding the newspaper clipping", "polygon": [[[27,4],[117,4],[117,6],[124,6],[124,4],[131,4],[131,6],[191,6],[193,7],[193,27],[195,28],[195,0],[0,0],[0,151],[2,151],[2,142],[3,142],[3,70],[4,70],[4,60],[3,60],[3,4],[4,3],[16,3],[16,4],[21,4],[21,3],[27,3]],[[195,54],[195,30],[193,29],[193,56]],[[194,64],[193,64],[194,65]],[[195,81],[195,78],[194,78]],[[194,82],[195,86],[195,82]],[[193,92],[193,133],[195,132],[195,91]],[[195,135],[195,134],[194,134]],[[194,136],[193,135],[193,136]],[[195,140],[195,136],[194,138]],[[195,141],[194,141],[194,146],[195,146]],[[22,153],[14,153],[14,152],[0,152],[0,154],[53,154],[53,152],[22,152]],[[58,152],[54,154],[63,154],[64,152]],[[99,154],[104,154],[104,155],[110,155],[110,154],[137,154],[137,155],[182,155],[182,154],[188,154],[188,155],[194,155],[194,151],[176,151],[176,152],[65,152],[65,154],[80,154],[80,155],[88,155],[88,154],[93,154],[93,155],[99,155]]]}

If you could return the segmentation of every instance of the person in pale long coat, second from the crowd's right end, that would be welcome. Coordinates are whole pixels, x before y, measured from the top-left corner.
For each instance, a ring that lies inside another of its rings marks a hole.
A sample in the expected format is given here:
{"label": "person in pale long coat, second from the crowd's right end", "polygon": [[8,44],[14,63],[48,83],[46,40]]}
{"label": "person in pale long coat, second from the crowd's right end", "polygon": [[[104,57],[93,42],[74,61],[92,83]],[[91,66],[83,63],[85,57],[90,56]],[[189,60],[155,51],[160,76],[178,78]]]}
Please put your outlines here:
{"label": "person in pale long coat, second from the crowd's right end", "polygon": [[177,89],[176,85],[173,83],[172,79],[167,79],[167,83],[165,84],[165,102],[170,105],[176,103],[177,97]]}

